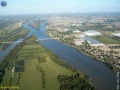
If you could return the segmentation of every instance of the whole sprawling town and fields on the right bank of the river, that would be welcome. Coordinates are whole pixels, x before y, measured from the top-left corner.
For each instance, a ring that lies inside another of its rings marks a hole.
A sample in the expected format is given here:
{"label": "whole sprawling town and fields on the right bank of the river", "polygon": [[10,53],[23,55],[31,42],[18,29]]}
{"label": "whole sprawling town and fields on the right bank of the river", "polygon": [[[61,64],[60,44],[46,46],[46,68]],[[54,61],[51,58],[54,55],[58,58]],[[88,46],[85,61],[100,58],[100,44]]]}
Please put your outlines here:
{"label": "whole sprawling town and fields on the right bank of the river", "polygon": [[113,71],[120,67],[120,16],[78,14],[47,17],[47,34],[105,63]]}

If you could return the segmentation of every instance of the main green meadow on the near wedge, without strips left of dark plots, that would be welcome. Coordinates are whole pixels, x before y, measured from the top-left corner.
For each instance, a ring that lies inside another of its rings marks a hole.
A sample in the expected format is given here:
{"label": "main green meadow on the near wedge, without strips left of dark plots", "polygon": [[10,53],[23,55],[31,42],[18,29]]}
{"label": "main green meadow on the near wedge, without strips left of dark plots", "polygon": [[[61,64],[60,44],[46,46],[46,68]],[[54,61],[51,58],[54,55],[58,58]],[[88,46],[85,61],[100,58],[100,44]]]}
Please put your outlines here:
{"label": "main green meadow on the near wedge, without strips left of dark plots", "polygon": [[[42,75],[41,72],[37,70],[37,66],[41,67],[45,72],[45,90],[59,90],[57,75],[73,74],[73,72],[71,72],[70,70],[53,62],[49,54],[40,45],[26,45],[23,47],[19,54],[26,57],[22,58],[21,56],[19,56],[18,58],[18,60],[25,60],[25,72],[22,73],[21,82],[19,84],[19,87],[21,88],[20,90],[42,89]],[[29,58],[27,56],[31,54],[34,55],[34,58],[27,59]],[[37,58],[38,56],[45,57],[46,62],[39,63],[39,60]],[[25,87],[23,87],[24,83],[26,83]]]}

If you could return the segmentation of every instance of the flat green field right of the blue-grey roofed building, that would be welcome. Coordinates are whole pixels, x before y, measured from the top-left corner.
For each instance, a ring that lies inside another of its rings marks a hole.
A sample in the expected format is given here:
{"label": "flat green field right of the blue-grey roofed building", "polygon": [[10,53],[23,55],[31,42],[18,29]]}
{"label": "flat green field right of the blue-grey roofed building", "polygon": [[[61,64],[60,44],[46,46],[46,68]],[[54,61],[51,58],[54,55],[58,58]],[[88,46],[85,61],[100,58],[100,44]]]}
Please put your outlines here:
{"label": "flat green field right of the blue-grey roofed building", "polygon": [[107,36],[93,37],[94,39],[104,43],[104,44],[120,44],[120,41],[114,40]]}

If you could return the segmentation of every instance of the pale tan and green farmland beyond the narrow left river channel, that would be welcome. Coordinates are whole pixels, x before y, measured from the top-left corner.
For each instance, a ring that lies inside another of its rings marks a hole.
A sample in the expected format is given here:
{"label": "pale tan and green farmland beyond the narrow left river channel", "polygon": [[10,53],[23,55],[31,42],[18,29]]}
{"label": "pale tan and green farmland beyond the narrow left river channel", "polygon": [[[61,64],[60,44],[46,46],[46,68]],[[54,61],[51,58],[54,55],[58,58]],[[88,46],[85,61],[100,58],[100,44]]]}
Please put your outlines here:
{"label": "pale tan and green farmland beyond the narrow left river channel", "polygon": [[[0,28],[0,42],[14,42],[27,35],[28,30],[22,27],[23,21]],[[0,43],[0,50],[6,49],[11,43]]]}

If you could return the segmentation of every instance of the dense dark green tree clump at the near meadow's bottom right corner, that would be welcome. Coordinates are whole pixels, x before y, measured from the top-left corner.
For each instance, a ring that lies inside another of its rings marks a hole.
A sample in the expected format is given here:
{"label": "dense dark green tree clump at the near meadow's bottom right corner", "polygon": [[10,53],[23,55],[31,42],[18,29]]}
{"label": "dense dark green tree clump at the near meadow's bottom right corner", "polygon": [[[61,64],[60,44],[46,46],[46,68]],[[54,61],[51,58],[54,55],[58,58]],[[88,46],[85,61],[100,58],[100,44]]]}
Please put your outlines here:
{"label": "dense dark green tree clump at the near meadow's bottom right corner", "polygon": [[96,90],[90,84],[90,80],[81,77],[79,73],[71,76],[58,75],[57,79],[60,83],[60,90]]}

